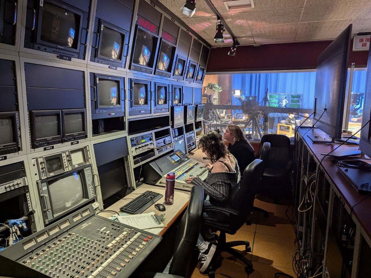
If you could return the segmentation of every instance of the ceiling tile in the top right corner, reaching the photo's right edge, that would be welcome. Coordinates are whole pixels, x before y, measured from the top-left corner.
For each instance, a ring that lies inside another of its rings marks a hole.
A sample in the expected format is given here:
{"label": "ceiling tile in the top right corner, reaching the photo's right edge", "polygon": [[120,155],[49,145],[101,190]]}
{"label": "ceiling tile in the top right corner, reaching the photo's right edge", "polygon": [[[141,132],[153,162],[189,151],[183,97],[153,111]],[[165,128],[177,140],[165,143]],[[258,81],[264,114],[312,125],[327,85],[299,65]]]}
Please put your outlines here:
{"label": "ceiling tile in the top right corner, reaching the photo's right edge", "polygon": [[301,22],[320,20],[355,19],[369,6],[369,2],[344,4],[342,6],[304,8]]}

